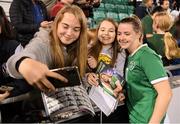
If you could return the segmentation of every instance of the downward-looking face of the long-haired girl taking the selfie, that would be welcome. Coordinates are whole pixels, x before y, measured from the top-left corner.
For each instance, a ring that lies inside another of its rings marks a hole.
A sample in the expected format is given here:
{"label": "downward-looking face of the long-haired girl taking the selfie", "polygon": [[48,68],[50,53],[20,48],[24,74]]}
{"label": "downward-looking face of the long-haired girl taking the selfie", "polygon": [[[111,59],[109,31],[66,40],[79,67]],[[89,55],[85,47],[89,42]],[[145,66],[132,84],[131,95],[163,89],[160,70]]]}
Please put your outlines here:
{"label": "downward-looking face of the long-haired girl taking the selfie", "polygon": [[81,25],[72,13],[64,13],[57,27],[57,35],[62,44],[69,45],[79,38]]}

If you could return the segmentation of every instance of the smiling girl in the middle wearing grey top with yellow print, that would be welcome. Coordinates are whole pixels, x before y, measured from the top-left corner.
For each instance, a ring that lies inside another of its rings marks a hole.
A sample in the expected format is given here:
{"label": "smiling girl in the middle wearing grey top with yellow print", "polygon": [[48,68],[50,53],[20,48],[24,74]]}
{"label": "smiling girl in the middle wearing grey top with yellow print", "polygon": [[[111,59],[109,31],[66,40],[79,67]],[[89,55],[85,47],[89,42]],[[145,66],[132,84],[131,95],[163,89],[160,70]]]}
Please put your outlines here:
{"label": "smiling girl in the middle wearing grey top with yellow print", "polygon": [[[123,67],[125,63],[125,52],[120,51],[116,41],[117,23],[110,18],[100,22],[96,30],[96,42],[89,50],[88,65],[91,69],[96,70],[98,62],[103,61],[123,76]],[[87,81],[90,85],[98,86],[97,75],[87,73]],[[114,94],[119,95],[122,87],[114,89]],[[98,114],[97,114],[98,116]],[[128,122],[127,109],[125,105],[119,106],[113,114],[106,117],[103,115],[103,122]]]}

